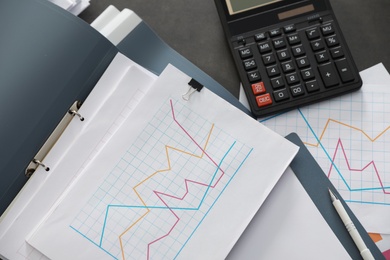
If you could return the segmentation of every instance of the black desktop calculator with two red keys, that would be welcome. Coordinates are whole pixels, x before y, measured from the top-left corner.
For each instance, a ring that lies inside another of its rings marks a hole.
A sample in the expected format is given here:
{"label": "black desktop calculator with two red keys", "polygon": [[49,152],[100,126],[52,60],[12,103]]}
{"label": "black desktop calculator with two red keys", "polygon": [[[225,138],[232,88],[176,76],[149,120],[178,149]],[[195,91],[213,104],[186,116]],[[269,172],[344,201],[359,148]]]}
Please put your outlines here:
{"label": "black desktop calculator with two red keys", "polygon": [[328,0],[214,0],[255,117],[357,90]]}

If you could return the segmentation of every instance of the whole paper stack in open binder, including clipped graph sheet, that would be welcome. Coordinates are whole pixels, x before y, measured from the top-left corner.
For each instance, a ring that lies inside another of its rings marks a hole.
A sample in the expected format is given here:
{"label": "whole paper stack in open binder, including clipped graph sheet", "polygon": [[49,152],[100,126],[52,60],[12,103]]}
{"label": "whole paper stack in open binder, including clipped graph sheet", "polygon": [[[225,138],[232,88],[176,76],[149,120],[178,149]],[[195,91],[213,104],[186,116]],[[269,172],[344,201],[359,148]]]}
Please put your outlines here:
{"label": "whole paper stack in open binder, including clipped graph sheet", "polygon": [[45,158],[50,172],[40,168],[3,215],[1,255],[226,257],[298,148],[207,86],[186,101],[190,81],[118,54],[85,120]]}

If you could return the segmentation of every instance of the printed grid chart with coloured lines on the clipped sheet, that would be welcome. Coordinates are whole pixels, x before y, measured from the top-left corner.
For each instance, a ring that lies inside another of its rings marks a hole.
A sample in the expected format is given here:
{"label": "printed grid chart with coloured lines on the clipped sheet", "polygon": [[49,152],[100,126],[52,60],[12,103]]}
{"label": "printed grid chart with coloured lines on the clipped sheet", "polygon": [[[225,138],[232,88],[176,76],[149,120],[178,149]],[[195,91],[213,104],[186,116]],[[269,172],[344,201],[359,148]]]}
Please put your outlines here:
{"label": "printed grid chart with coloured lines on the clipped sheet", "polygon": [[251,151],[170,99],[70,227],[114,259],[173,259]]}

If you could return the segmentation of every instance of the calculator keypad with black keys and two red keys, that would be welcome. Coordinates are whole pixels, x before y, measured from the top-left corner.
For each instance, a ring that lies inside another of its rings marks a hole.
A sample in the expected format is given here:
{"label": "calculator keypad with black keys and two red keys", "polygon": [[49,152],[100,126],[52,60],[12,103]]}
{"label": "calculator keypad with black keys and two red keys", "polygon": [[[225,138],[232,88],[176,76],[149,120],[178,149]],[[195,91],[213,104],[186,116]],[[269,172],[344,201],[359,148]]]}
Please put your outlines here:
{"label": "calculator keypad with black keys and two red keys", "polygon": [[[299,28],[289,24],[256,33],[253,44],[237,48],[249,81],[249,86],[243,82],[244,88],[255,100],[255,115],[261,116],[262,109],[273,106],[280,106],[280,110],[292,108],[294,100],[330,96],[333,89],[359,81],[334,23]],[[304,103],[309,101],[301,105]]]}

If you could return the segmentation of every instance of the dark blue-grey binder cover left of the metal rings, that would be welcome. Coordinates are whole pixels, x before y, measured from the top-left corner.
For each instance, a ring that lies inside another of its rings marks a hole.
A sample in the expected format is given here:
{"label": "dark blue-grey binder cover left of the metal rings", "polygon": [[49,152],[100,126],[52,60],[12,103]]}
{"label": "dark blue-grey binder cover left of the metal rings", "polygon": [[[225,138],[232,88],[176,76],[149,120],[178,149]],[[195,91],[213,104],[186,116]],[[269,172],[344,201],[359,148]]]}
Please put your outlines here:
{"label": "dark blue-grey binder cover left of the metal rings", "polygon": [[25,169],[76,101],[83,102],[117,49],[43,0],[0,4],[0,215]]}

